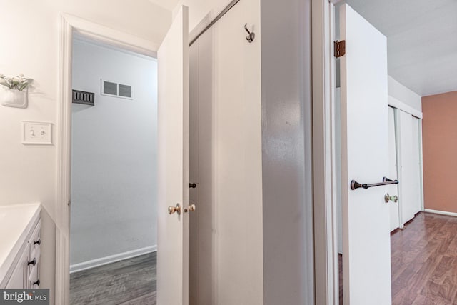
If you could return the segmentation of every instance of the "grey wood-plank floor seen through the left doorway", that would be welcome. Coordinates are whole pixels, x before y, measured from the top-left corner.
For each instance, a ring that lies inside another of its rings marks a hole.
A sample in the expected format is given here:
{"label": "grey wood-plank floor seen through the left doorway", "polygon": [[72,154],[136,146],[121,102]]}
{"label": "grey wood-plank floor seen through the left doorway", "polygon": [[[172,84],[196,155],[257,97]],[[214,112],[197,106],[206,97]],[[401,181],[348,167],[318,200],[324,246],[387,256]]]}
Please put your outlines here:
{"label": "grey wood-plank floor seen through the left doorway", "polygon": [[70,304],[156,305],[156,252],[71,274]]}

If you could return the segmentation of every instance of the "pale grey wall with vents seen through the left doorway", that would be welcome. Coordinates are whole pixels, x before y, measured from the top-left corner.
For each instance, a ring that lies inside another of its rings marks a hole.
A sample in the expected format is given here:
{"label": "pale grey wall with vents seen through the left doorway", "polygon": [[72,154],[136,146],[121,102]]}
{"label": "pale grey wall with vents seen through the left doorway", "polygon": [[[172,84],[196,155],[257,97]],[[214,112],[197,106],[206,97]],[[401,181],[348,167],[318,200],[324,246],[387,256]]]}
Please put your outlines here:
{"label": "pale grey wall with vents seen through the left doorway", "polygon": [[[100,94],[100,79],[132,86],[133,99]],[[156,248],[157,62],[74,40],[71,263]]]}

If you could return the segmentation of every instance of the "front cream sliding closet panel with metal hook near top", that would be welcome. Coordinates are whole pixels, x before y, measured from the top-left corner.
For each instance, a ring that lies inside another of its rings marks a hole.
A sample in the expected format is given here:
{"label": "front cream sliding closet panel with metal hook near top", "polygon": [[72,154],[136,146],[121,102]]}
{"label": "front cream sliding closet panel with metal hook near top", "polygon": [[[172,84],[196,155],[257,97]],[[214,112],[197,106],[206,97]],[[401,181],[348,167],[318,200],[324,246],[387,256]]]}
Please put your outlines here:
{"label": "front cream sliding closet panel with metal hook near top", "polygon": [[212,304],[263,304],[260,35],[249,43],[243,29],[260,29],[258,13],[240,1],[213,26]]}

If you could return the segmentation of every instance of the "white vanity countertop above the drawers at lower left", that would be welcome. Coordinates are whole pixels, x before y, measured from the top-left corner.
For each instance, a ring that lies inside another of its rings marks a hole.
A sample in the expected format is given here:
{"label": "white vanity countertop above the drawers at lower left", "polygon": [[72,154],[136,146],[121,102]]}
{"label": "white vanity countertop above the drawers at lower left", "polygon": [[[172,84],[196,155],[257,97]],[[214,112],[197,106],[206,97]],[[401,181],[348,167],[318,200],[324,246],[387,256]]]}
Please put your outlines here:
{"label": "white vanity countertop above the drawers at lower left", "polygon": [[0,284],[26,243],[40,211],[38,203],[0,206]]}

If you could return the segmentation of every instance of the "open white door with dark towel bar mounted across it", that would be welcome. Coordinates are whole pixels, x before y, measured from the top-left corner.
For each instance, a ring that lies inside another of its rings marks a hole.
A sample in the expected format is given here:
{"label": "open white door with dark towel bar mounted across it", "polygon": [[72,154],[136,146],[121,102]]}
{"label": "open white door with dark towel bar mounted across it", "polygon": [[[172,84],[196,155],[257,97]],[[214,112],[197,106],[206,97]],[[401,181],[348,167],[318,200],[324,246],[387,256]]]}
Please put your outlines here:
{"label": "open white door with dark towel bar mounted across it", "polygon": [[340,11],[341,192],[344,304],[391,304],[386,37],[350,6]]}

